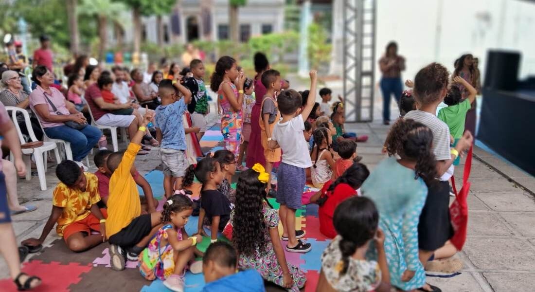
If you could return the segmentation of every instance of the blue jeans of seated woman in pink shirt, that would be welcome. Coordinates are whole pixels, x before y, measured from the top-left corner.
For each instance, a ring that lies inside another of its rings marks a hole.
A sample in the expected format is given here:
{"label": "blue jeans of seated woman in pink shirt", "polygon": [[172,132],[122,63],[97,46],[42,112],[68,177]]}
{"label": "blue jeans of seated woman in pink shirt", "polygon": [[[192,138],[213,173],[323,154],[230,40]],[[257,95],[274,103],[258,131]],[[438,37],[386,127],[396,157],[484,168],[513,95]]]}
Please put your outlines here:
{"label": "blue jeans of seated woman in pink shirt", "polygon": [[63,125],[45,128],[44,132],[47,133],[49,138],[70,142],[74,161],[82,161],[102,137],[102,131],[91,125],[87,125],[81,130]]}

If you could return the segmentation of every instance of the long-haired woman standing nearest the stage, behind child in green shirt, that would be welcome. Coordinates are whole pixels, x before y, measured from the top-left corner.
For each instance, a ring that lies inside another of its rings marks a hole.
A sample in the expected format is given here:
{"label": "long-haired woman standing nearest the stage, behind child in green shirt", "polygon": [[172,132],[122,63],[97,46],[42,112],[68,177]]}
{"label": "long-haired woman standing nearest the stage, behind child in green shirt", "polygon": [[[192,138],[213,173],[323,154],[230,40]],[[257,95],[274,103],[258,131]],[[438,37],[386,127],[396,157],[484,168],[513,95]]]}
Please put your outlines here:
{"label": "long-haired woman standing nearest the stage, behind child in green shirt", "polygon": [[[466,80],[470,85],[479,90],[477,86],[478,71],[473,66],[473,56],[472,54],[462,55],[455,61],[455,71],[453,71],[452,78],[460,76]],[[461,91],[461,98],[465,99],[469,95],[468,89],[465,88],[460,83],[455,83],[454,86],[457,86]],[[472,107],[467,112],[467,117],[464,121],[464,129],[469,130],[470,133],[474,133],[473,136],[476,136],[476,108],[477,100],[472,102]],[[475,140],[475,139],[474,139]]]}

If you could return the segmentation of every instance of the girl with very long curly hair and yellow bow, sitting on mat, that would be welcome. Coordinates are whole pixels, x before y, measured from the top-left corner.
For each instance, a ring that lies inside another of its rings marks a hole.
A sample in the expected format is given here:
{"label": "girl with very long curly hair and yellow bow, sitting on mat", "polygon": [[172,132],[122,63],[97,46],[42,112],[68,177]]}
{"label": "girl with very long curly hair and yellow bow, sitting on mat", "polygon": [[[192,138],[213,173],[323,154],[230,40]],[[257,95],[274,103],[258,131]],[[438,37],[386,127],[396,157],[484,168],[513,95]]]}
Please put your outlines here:
{"label": "girl with very long curly hair and yellow bow, sitting on mat", "polygon": [[256,269],[264,280],[299,291],[307,279],[303,271],[286,262],[279,240],[279,216],[266,201],[268,183],[269,174],[259,163],[243,171],[238,179],[236,207],[232,212],[232,241],[239,253],[238,268]]}

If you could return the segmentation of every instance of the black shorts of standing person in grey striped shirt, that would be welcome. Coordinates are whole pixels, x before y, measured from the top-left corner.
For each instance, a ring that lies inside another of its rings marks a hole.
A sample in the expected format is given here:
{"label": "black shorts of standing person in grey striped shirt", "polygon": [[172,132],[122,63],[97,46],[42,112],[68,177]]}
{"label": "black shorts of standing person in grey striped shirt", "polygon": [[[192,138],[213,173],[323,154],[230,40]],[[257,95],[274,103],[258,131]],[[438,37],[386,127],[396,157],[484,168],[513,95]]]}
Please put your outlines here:
{"label": "black shorts of standing person in grey striped shirt", "polygon": [[418,246],[421,250],[434,251],[453,236],[449,216],[449,183],[435,181],[427,192],[425,205],[418,223]]}

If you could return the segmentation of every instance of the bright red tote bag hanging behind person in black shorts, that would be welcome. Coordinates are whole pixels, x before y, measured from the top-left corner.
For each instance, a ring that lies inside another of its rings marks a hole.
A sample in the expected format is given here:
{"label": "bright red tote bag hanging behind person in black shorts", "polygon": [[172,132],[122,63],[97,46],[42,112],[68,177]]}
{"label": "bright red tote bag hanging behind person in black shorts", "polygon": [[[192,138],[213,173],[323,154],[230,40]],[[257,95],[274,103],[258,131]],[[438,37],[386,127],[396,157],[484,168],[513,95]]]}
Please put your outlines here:
{"label": "bright red tote bag hanging behind person in black shorts", "polygon": [[455,200],[449,207],[450,219],[453,226],[453,237],[450,238],[450,242],[455,248],[460,251],[463,248],[464,242],[467,239],[467,227],[468,227],[468,191],[470,190],[470,170],[472,169],[472,147],[468,151],[467,160],[464,164],[463,172],[463,186],[460,191],[457,192],[455,188],[455,178],[452,176],[452,187],[455,193]]}

